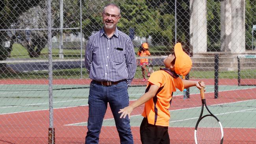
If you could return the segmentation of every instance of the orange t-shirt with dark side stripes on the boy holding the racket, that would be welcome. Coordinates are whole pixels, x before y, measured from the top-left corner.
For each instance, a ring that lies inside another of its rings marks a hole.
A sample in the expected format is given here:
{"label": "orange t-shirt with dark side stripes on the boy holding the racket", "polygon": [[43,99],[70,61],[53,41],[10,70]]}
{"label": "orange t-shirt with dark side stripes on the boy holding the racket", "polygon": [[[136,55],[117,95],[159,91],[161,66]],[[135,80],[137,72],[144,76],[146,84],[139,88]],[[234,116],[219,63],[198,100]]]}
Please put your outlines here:
{"label": "orange t-shirt with dark side stripes on the boy holding the racket", "polygon": [[184,84],[181,78],[173,78],[164,70],[153,72],[148,79],[147,90],[150,85],[157,85],[158,92],[154,98],[145,103],[142,116],[147,117],[148,123],[157,126],[169,126],[170,101],[176,88],[182,91]]}

